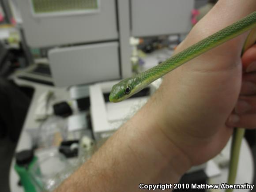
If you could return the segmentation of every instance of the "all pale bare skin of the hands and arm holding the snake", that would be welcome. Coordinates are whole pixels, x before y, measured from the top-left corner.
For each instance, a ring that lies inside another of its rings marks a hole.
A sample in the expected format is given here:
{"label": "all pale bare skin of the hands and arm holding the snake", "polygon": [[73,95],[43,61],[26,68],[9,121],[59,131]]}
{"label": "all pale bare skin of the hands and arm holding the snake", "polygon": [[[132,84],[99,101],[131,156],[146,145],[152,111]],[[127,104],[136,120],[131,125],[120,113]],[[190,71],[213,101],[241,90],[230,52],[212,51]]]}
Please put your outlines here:
{"label": "all pale bare skin of the hands and arm holding the snake", "polygon": [[[255,0],[219,0],[176,53],[255,10]],[[247,35],[167,74],[149,102],[56,191],[136,192],[139,183],[177,183],[217,155],[233,127],[255,128],[256,46],[241,58]]]}

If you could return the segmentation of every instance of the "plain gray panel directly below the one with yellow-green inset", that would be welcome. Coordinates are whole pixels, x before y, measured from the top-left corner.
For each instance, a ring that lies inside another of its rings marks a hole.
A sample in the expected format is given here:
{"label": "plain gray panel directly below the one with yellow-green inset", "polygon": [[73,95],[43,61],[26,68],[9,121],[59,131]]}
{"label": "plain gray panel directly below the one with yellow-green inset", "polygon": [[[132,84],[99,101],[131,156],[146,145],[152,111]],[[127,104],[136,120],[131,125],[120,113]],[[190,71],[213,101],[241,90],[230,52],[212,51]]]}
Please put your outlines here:
{"label": "plain gray panel directly below the one with yellow-green inset", "polygon": [[55,86],[120,78],[117,42],[51,49],[49,62]]}

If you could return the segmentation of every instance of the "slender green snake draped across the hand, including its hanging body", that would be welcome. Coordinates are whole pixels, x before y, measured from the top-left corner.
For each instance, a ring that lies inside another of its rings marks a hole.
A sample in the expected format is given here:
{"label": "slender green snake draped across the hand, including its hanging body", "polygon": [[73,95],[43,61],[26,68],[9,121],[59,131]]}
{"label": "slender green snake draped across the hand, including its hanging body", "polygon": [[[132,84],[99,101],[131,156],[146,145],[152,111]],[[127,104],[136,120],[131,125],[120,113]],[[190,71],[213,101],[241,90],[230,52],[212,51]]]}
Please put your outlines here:
{"label": "slender green snake draped across the hand, including its hanging body", "polygon": [[[254,27],[256,27],[256,11],[246,16],[245,18],[231,24],[230,26],[219,30],[215,34],[204,38],[203,40],[195,43],[187,49],[184,49],[180,53],[170,57],[161,64],[158,64],[157,66],[150,68],[145,72],[139,73],[131,78],[123,79],[113,86],[109,95],[109,101],[120,102],[126,98],[131,97],[133,94],[136,94],[143,88],[147,87],[150,83],[162,77],[163,75],[166,75],[166,73],[172,71],[173,69],[181,66],[182,64],[192,60],[197,56],[200,56],[210,49],[213,49],[218,45],[221,45],[222,43],[237,37],[238,35],[243,34],[245,31],[251,30]],[[248,44],[251,44],[251,41],[252,40],[247,39],[243,51],[248,48]],[[252,44],[254,42],[255,39],[253,40]],[[236,128],[234,130],[228,184],[234,184],[236,178],[240,145],[243,135],[243,128]]]}

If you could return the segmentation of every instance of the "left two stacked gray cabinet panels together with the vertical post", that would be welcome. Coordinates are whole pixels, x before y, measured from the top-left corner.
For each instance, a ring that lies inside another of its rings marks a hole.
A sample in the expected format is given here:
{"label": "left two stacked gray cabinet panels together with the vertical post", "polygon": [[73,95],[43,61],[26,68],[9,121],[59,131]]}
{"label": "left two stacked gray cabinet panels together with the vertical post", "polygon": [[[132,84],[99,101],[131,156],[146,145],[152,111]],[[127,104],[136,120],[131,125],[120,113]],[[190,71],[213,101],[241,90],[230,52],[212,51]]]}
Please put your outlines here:
{"label": "left two stacked gray cabinet panels together with the vertical post", "polygon": [[128,1],[23,0],[18,4],[28,44],[50,48],[48,57],[55,86],[132,75],[129,13],[124,10]]}

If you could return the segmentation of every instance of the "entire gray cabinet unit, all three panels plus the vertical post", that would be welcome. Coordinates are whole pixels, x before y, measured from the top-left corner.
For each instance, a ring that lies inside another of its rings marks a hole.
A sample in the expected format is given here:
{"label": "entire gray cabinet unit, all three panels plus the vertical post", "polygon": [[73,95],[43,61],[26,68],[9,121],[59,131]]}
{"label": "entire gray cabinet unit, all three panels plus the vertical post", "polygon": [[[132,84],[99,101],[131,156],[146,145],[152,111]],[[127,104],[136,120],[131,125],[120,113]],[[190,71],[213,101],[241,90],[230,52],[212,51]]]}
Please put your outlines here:
{"label": "entire gray cabinet unit, all three panels plus the vertical post", "polygon": [[[55,86],[131,76],[129,38],[184,34],[189,31],[194,6],[194,0],[17,0],[17,3],[28,45],[49,48]],[[104,53],[105,49],[108,52]],[[96,64],[94,60],[99,62]]]}

